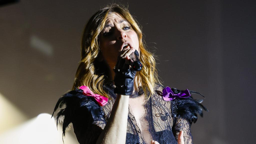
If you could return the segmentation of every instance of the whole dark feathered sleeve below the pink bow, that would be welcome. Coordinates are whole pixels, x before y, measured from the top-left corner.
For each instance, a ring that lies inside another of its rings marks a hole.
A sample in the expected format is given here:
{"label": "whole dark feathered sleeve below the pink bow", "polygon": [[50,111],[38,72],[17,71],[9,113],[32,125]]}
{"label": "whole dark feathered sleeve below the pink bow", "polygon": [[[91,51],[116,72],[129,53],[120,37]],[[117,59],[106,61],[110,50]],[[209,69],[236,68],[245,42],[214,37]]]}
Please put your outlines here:
{"label": "whole dark feathered sleeve below the pink bow", "polygon": [[106,124],[104,113],[101,106],[82,92],[81,89],[68,91],[59,98],[54,108],[54,112],[61,108],[56,116],[57,125],[62,123],[63,136],[73,125],[80,144],[96,143]]}

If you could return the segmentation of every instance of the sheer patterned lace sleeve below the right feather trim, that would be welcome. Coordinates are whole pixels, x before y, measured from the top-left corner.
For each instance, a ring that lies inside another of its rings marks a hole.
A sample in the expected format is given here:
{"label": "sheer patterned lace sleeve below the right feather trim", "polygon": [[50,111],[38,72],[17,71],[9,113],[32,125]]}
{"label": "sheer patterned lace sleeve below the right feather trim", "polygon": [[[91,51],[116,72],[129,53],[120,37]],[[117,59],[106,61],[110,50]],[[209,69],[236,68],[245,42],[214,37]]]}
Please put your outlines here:
{"label": "sheer patterned lace sleeve below the right feather trim", "polygon": [[193,144],[192,136],[191,136],[191,130],[190,130],[190,123],[188,120],[184,118],[177,117],[176,122],[173,127],[173,135],[176,138],[176,141],[178,141],[178,135],[181,130],[184,131],[183,138],[185,144]]}

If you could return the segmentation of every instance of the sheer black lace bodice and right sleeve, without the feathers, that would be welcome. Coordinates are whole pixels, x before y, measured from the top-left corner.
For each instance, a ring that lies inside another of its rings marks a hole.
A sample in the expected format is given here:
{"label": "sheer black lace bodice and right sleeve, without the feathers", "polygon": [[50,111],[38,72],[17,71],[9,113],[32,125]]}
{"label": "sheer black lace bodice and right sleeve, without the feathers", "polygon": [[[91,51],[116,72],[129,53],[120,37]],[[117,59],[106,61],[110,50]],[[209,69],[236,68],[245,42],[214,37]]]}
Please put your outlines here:
{"label": "sheer black lace bodice and right sleeve, without the feathers", "polygon": [[[114,100],[116,99],[116,95],[113,93],[113,89],[115,88],[113,84],[108,83],[105,88],[112,98],[107,105],[102,107],[105,113],[105,122],[107,122]],[[178,125],[174,126],[172,117],[172,101],[163,100],[161,95],[163,88],[164,87],[161,85],[156,85],[156,94],[152,95],[148,101],[146,101],[141,87],[138,88],[138,91],[135,91],[132,94],[131,97],[140,96],[134,99],[140,98],[144,100],[144,103],[141,104],[144,108],[144,111],[142,110],[144,115],[140,119],[136,118],[133,112],[134,109],[132,109],[129,104],[126,143],[147,143],[151,140],[156,140],[160,143],[177,143],[176,139],[180,130],[186,130],[186,135],[184,133],[185,141],[187,141],[187,143],[192,143],[190,125],[186,120],[179,119]],[[136,139],[133,137],[136,137]]]}

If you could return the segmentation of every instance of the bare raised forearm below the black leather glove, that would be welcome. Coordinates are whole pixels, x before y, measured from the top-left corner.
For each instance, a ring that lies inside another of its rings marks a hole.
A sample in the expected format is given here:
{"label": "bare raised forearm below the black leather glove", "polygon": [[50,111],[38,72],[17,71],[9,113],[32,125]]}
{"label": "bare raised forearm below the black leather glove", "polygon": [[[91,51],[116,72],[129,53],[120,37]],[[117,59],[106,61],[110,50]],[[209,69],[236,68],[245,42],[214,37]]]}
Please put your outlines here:
{"label": "bare raised forearm below the black leather glove", "polygon": [[117,95],[109,120],[101,132],[97,144],[125,143],[129,96]]}

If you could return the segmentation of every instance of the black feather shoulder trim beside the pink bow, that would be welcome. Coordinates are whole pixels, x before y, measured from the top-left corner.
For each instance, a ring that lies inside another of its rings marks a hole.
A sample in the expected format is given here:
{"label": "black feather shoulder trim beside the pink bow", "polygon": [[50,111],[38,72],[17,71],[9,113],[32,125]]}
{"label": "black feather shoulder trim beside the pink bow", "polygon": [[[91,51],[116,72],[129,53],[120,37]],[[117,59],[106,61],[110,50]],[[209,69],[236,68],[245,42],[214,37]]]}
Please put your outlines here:
{"label": "black feather shoulder trim beside the pink bow", "polygon": [[[78,115],[81,114],[81,110],[83,110],[83,114],[88,113],[89,116],[91,114],[94,121],[99,119],[102,115],[101,106],[99,106],[92,97],[83,95],[83,90],[77,88],[75,90],[66,92],[59,98],[52,116],[58,107],[61,109],[56,116],[57,126],[58,122],[63,122],[63,136],[65,136],[65,132],[67,127],[69,127],[69,124],[71,124],[73,120],[76,120]],[[84,111],[84,108],[86,111]]]}

